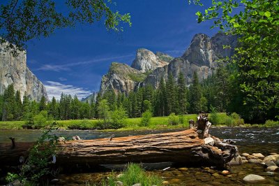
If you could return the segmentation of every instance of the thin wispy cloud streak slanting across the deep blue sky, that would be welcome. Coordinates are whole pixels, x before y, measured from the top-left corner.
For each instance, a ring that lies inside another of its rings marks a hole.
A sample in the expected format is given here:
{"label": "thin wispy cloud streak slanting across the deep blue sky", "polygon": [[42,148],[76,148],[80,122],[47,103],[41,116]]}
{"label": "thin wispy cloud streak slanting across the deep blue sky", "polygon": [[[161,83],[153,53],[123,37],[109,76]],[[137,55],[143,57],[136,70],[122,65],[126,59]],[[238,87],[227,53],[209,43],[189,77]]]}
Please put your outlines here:
{"label": "thin wispy cloud streak slanting across the deep blue sky", "polygon": [[44,64],[43,66],[40,66],[40,68],[36,69],[36,71],[70,71],[70,67],[73,66],[79,66],[82,64],[93,64],[96,62],[104,62],[104,61],[113,61],[113,60],[121,60],[126,59],[127,57],[131,57],[133,55],[121,55],[121,56],[115,56],[115,57],[102,57],[99,59],[91,59],[87,61],[80,61],[80,62],[74,62],[74,63],[68,63],[68,64]]}

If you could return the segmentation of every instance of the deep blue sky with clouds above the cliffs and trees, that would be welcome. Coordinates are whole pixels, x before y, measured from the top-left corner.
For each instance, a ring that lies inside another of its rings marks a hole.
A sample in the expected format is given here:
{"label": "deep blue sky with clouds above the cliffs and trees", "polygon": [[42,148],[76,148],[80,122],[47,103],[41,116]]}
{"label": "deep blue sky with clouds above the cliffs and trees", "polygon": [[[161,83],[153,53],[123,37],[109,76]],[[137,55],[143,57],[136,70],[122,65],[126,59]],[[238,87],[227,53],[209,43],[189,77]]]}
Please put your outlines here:
{"label": "deep blue sky with clouds above the cliffs and trees", "polygon": [[[209,1],[210,2],[210,1]],[[180,57],[198,33],[213,36],[211,22],[197,24],[205,7],[187,0],[119,0],[116,9],[130,13],[132,27],[108,32],[103,22],[56,30],[27,43],[27,65],[44,83],[49,98],[61,92],[79,98],[97,92],[112,62],[131,64],[138,48]]]}

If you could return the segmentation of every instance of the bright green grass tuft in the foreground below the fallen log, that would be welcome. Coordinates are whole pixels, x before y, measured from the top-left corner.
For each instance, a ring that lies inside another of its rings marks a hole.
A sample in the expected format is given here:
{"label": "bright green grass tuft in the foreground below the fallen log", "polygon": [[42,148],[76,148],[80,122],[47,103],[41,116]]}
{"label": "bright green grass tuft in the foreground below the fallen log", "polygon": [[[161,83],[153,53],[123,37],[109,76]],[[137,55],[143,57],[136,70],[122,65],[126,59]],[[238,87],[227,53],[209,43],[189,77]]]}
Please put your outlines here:
{"label": "bright green grass tuft in the foreground below the fallen log", "polygon": [[154,174],[147,173],[144,171],[142,166],[133,163],[128,164],[126,170],[121,173],[119,178],[112,173],[112,176],[108,178],[107,183],[108,185],[114,186],[117,185],[116,181],[121,181],[124,186],[130,186],[137,183],[140,183],[142,186],[163,185],[162,178]]}

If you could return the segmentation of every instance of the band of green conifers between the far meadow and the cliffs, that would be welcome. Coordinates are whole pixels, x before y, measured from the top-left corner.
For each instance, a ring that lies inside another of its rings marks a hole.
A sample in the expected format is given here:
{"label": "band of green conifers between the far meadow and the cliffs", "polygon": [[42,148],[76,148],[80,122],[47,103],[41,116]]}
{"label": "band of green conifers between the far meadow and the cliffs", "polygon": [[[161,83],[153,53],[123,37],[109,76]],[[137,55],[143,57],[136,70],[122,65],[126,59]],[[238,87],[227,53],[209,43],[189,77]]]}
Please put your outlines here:
{"label": "band of green conifers between the far meadow and the cliffs", "polygon": [[28,120],[43,110],[53,120],[77,120],[101,118],[107,120],[112,115],[142,117],[149,110],[153,116],[167,116],[171,113],[184,115],[188,113],[226,112],[238,113],[246,122],[263,123],[276,120],[278,108],[255,109],[254,104],[244,103],[245,92],[240,88],[240,77],[234,64],[220,64],[218,69],[205,80],[199,80],[193,74],[193,83],[188,87],[182,73],[177,80],[169,74],[167,80],[160,80],[157,89],[151,85],[140,87],[128,94],[115,94],[110,90],[98,94],[96,100],[85,103],[77,96],[61,94],[60,100],[54,97],[47,102],[42,97],[37,103],[31,101],[25,93],[20,99],[20,91],[9,85],[0,96],[0,117],[2,120]]}

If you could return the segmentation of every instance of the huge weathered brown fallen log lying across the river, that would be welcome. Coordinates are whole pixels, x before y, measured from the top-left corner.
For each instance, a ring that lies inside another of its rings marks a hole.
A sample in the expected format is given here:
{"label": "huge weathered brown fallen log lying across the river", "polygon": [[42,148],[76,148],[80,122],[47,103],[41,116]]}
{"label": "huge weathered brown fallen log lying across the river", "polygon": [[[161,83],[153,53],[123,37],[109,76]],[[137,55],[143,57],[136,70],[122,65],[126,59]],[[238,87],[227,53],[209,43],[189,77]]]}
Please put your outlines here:
{"label": "huge weathered brown fallen log lying across the river", "polygon": [[[209,140],[210,139],[210,140]],[[216,141],[217,146],[213,145]],[[217,143],[218,142],[218,143]],[[18,164],[31,143],[0,144],[0,164]],[[197,129],[121,138],[59,143],[57,164],[120,164],[127,162],[179,162],[223,166],[237,155],[218,138],[200,138]],[[223,150],[221,150],[223,148]]]}

